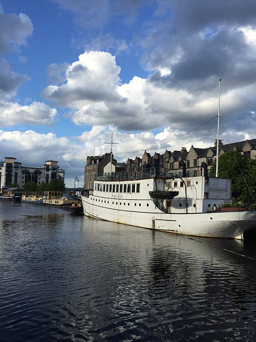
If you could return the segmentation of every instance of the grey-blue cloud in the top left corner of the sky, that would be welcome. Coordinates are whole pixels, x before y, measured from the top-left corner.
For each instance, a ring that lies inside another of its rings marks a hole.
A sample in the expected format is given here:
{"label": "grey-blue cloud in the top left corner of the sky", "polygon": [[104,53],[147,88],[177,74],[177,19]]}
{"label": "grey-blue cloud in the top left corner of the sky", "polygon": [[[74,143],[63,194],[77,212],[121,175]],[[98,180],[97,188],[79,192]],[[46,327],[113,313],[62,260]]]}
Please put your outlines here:
{"label": "grey-blue cloud in the top left corner of the sky", "polygon": [[0,5],[0,53],[7,54],[12,47],[18,47],[26,43],[26,39],[32,35],[33,24],[28,16],[23,13],[5,14]]}

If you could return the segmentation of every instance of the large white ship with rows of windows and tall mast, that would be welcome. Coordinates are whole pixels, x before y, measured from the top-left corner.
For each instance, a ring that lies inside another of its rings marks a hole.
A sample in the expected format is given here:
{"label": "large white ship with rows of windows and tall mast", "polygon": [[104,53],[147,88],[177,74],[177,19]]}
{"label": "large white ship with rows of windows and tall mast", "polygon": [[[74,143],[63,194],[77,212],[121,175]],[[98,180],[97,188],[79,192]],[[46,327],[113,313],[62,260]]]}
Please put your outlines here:
{"label": "large white ship with rows of windows and tall mast", "polygon": [[[220,94],[220,78],[219,78]],[[231,203],[231,180],[218,177],[219,112],[216,177],[168,177],[150,169],[151,178],[125,179],[125,174],[99,175],[94,190],[81,193],[84,215],[107,221],[172,233],[243,239],[243,232],[256,226],[256,210],[221,211]],[[111,145],[112,153],[112,145]],[[148,176],[147,176],[148,177]],[[117,181],[118,180],[118,181]]]}

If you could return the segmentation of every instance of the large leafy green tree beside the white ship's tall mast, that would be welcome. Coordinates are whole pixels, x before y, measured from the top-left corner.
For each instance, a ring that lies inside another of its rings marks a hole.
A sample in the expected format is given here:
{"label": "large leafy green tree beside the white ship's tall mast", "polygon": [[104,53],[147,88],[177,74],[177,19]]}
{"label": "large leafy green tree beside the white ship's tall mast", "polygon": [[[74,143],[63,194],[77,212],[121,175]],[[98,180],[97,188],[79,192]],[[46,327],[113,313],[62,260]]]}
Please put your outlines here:
{"label": "large leafy green tree beside the white ship's tall mast", "polygon": [[[210,175],[215,176],[215,174],[216,160],[210,169]],[[248,202],[254,202],[254,198],[256,198],[256,160],[245,157],[241,147],[237,146],[235,150],[230,150],[219,157],[219,177],[232,179],[232,192],[240,193],[237,201],[244,203],[246,202],[247,184]]]}

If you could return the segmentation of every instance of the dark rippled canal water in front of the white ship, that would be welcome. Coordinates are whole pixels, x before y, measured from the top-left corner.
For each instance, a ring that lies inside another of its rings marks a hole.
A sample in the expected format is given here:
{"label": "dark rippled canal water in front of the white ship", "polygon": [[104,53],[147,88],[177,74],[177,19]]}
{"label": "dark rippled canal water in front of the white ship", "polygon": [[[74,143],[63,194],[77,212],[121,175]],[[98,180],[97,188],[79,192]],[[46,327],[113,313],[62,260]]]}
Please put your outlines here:
{"label": "dark rippled canal water in front of the white ship", "polygon": [[0,201],[0,341],[256,341],[256,239]]}

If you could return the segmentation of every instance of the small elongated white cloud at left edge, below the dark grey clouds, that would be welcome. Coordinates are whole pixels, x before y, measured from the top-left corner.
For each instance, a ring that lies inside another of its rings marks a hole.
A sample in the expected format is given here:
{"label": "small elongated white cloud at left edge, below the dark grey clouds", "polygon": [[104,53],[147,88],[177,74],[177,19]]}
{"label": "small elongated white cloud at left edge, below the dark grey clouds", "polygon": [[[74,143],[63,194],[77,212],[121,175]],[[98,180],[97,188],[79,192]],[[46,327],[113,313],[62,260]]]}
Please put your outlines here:
{"label": "small elongated white cloud at left edge, below the dark grey clouds", "polygon": [[17,124],[52,125],[55,122],[57,111],[45,103],[33,102],[21,106],[17,102],[0,101],[0,126],[10,127]]}

